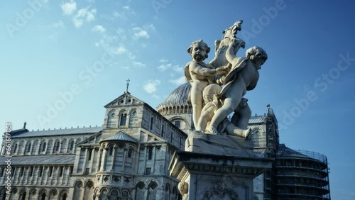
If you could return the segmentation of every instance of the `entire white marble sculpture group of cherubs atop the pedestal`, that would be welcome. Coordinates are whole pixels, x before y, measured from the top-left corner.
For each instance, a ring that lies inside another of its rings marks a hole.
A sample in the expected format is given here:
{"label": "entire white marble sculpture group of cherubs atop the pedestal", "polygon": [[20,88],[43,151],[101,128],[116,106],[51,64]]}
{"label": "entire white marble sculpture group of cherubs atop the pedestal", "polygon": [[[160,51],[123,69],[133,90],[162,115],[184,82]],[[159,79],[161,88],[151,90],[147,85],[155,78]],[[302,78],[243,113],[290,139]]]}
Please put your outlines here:
{"label": "entire white marble sculpture group of cherubs atop the pedestal", "polygon": [[[236,56],[240,48],[245,48],[245,42],[236,37],[241,23],[236,21],[223,31],[222,39],[215,41],[214,59],[209,63],[204,60],[210,48],[203,40],[193,42],[187,49],[192,61],[185,67],[185,76],[191,84],[192,121],[197,131],[249,136],[251,109],[243,96],[256,87],[258,70],[268,55],[263,48],[254,46],[246,50],[246,57]],[[233,112],[229,121],[227,116]]]}

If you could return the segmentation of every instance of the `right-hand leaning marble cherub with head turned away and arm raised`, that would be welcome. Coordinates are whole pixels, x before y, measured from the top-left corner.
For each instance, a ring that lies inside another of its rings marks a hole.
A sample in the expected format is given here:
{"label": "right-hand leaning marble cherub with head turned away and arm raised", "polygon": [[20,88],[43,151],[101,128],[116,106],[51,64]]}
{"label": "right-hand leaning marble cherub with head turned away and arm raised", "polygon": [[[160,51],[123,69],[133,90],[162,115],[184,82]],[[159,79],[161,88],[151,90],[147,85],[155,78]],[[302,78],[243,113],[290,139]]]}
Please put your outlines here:
{"label": "right-hand leaning marble cherub with head turned away and arm raised", "polygon": [[224,79],[224,88],[219,94],[219,99],[224,101],[221,108],[215,111],[207,131],[213,134],[220,134],[217,130],[219,123],[224,121],[231,112],[235,111],[241,102],[246,91],[256,87],[261,65],[266,62],[268,55],[266,51],[259,47],[246,50],[246,57],[236,57],[235,48],[239,48],[238,38],[231,40],[229,48],[226,50],[226,60],[231,63],[231,71]]}

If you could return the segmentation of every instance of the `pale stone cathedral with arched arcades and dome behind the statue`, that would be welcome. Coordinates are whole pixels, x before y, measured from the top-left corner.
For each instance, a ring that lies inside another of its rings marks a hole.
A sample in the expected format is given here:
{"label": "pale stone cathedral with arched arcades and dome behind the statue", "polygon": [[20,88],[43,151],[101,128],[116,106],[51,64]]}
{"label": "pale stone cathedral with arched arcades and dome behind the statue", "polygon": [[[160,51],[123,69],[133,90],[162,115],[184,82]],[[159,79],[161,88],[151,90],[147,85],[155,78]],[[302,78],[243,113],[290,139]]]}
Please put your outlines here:
{"label": "pale stone cathedral with arched arcades and dome behind the statue", "polygon": [[[168,166],[194,130],[189,91],[182,84],[155,110],[126,90],[104,106],[100,127],[12,130],[10,155],[1,146],[0,200],[182,199]],[[327,158],[279,144],[270,106],[249,128],[256,155],[275,158],[254,179],[254,199],[330,199]]]}

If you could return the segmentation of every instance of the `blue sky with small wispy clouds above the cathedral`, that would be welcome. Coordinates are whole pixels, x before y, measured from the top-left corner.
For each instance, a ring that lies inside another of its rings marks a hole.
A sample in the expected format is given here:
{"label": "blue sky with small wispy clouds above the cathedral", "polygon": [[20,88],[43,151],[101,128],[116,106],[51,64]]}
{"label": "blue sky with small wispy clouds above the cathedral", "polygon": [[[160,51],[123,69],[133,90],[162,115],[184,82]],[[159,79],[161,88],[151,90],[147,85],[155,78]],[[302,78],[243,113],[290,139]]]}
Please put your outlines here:
{"label": "blue sky with small wispy clouds above the cathedral", "polygon": [[[222,3],[221,3],[222,2]],[[0,126],[102,126],[129,91],[153,108],[185,82],[187,48],[243,20],[268,52],[246,97],[276,113],[280,143],[327,155],[332,199],[355,199],[353,1],[1,1]],[[244,56],[245,50],[238,55]],[[209,62],[214,57],[209,53]],[[53,108],[55,111],[53,111]]]}

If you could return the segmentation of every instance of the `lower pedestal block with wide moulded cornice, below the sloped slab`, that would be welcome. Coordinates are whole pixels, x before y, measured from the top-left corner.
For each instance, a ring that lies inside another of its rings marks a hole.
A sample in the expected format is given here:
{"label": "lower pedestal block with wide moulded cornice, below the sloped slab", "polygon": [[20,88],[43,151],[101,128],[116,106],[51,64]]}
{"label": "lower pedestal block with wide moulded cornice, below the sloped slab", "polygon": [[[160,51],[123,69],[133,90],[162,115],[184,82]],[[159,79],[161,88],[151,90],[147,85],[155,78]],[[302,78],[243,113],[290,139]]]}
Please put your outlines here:
{"label": "lower pedestal block with wide moulded cornice, below the sloped slab", "polygon": [[271,169],[272,158],[175,152],[170,176],[184,200],[253,199],[253,179]]}

